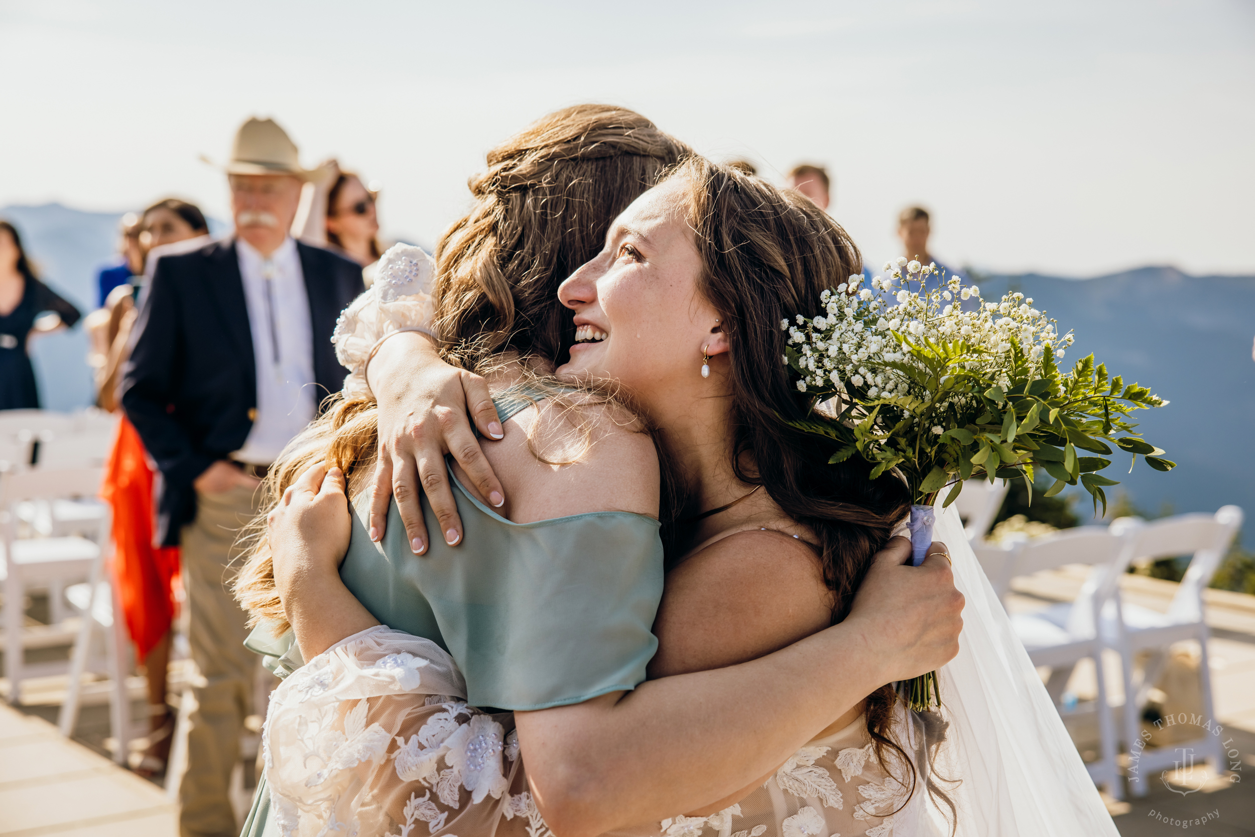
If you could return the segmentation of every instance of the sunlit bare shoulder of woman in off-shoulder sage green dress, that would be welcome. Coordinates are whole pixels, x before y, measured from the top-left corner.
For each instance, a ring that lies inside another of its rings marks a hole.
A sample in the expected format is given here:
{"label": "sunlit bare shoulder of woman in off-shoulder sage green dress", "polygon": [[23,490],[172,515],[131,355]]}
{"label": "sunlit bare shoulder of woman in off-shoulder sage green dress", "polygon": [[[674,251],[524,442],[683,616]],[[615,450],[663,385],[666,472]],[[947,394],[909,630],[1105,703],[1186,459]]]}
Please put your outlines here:
{"label": "sunlit bare shoulder of woman in off-shoulder sage green dress", "polygon": [[658,517],[658,452],[620,405],[545,399],[511,417],[506,438],[484,452],[517,523],[586,512]]}

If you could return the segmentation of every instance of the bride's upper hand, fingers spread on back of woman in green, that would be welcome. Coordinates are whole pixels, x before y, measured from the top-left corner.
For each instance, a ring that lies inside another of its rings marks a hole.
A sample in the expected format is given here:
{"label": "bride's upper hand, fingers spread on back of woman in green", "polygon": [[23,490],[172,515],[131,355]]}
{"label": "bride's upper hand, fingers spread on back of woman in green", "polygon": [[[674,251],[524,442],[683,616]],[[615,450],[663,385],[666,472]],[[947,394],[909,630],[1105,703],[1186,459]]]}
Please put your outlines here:
{"label": "bride's upper hand, fingers spread on back of woman in green", "polygon": [[388,501],[395,497],[410,548],[417,555],[427,551],[428,535],[418,499],[422,487],[435,512],[437,537],[458,543],[462,521],[449,488],[444,454],[453,454],[489,503],[499,507],[506,496],[467,420],[469,410],[481,434],[502,438],[488,385],[483,378],[444,363],[432,340],[415,331],[388,338],[366,366],[366,379],[379,402],[371,540],[383,537]]}

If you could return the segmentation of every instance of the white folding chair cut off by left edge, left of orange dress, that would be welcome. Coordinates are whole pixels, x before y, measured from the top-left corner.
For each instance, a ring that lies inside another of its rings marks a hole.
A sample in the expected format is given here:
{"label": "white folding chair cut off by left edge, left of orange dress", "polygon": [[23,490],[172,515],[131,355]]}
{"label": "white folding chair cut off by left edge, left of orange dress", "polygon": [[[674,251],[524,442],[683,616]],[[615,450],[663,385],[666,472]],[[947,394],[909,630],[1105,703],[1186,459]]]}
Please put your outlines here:
{"label": "white folding chair cut off by left edge, left of orange dress", "polygon": [[[61,674],[68,669],[65,663],[28,665],[24,649],[49,644],[49,636],[58,631],[58,639],[74,636],[73,631],[67,631],[59,624],[45,629],[26,627],[24,602],[28,592],[45,587],[53,590],[54,597],[59,599],[59,591],[65,584],[98,577],[104,545],[109,542],[107,521],[99,541],[80,536],[19,538],[16,506],[30,501],[94,497],[100,487],[100,476],[99,468],[25,471],[0,476],[0,508],[9,511],[3,527],[3,568],[5,674],[9,679],[10,703],[21,703],[24,679]],[[51,610],[54,614],[60,612],[59,602],[54,602]]]}

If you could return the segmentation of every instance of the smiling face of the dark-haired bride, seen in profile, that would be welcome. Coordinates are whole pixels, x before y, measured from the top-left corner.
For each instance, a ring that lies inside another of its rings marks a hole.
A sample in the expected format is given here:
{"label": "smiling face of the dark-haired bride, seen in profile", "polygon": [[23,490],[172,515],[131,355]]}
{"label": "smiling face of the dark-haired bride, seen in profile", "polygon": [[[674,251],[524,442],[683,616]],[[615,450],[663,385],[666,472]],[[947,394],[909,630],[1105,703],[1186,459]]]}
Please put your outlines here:
{"label": "smiling face of the dark-haired bride, seen in profile", "polygon": [[703,384],[703,348],[727,351],[719,315],[698,292],[689,191],[671,179],[636,198],[610,225],[605,248],[562,282],[576,344],[560,376],[619,381],[649,410]]}

